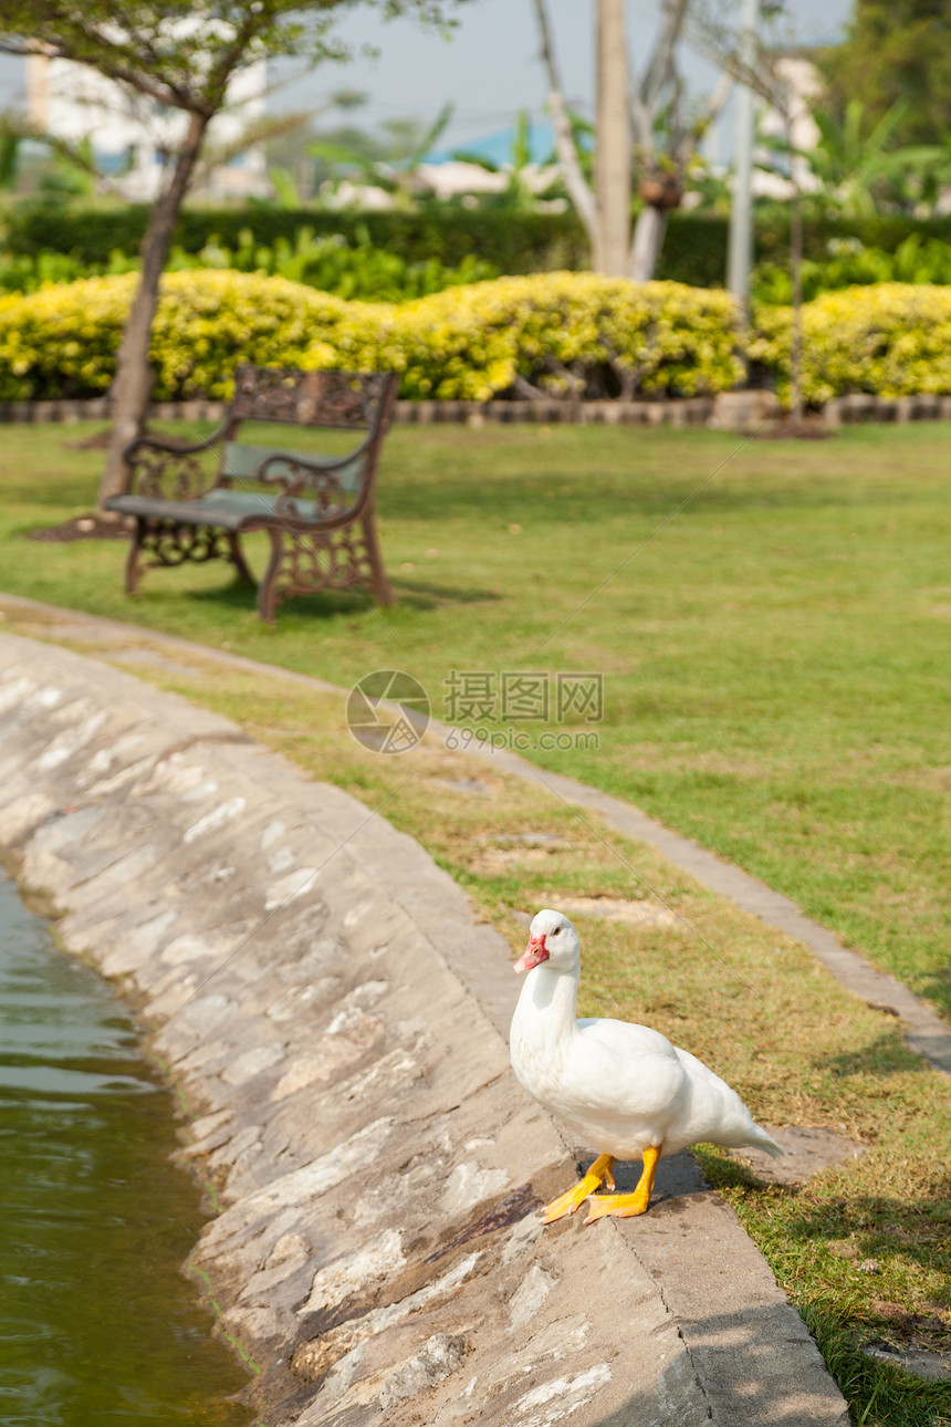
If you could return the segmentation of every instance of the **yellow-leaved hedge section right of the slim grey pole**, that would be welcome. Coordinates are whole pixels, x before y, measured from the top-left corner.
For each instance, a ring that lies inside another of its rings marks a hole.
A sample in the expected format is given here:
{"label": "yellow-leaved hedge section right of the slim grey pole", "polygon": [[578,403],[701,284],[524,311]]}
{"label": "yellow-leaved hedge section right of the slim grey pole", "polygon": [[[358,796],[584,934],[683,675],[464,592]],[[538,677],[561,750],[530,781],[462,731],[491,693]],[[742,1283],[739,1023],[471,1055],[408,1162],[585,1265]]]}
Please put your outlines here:
{"label": "yellow-leaved hedge section right of the slim grey pole", "polygon": [[[747,347],[790,385],[788,307],[759,308]],[[878,397],[951,392],[951,288],[875,283],[824,293],[803,308],[803,394],[813,405],[848,391]]]}

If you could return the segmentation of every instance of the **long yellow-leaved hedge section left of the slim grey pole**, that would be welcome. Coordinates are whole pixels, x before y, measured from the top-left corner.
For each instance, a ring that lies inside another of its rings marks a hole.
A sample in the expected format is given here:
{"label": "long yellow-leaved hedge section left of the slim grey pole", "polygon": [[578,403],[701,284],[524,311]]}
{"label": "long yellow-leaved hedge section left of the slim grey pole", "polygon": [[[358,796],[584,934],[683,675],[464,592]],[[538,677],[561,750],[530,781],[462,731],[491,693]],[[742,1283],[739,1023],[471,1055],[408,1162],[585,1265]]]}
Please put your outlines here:
{"label": "long yellow-leaved hedge section left of the slim grey pole", "polygon": [[[0,400],[107,390],[134,274],[0,298]],[[724,293],[587,273],[498,278],[402,304],[281,277],[170,273],[153,332],[157,400],[221,398],[240,361],[395,370],[405,397],[693,395],[740,380]]]}

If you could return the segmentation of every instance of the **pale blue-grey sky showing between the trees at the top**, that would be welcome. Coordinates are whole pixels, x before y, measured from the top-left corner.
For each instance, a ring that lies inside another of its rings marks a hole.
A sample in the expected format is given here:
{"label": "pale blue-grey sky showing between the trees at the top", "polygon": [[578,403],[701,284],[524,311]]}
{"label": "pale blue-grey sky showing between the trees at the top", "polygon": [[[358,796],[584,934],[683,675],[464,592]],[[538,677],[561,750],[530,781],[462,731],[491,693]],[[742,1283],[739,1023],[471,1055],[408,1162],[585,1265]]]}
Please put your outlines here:
{"label": "pale blue-grey sky showing between the trees at the top", "polygon": [[[555,43],[569,100],[590,111],[595,88],[592,0],[549,0]],[[654,30],[656,0],[629,0],[632,60],[643,63]],[[841,31],[850,0],[787,0],[787,30],[798,40],[830,40]],[[465,0],[455,13],[459,24],[449,39],[426,33],[411,20],[384,24],[372,6],[352,10],[339,34],[361,50],[375,46],[376,59],[325,66],[287,83],[272,98],[277,108],[317,107],[338,88],[356,88],[368,103],[351,113],[374,127],[386,118],[419,116],[432,120],[442,104],[456,106],[446,143],[462,146],[510,124],[519,108],[542,113],[545,77],[538,60],[538,36],[530,0]],[[729,4],[717,3],[726,16]],[[713,71],[684,54],[692,88],[703,91]],[[288,77],[288,71],[282,70]],[[0,56],[0,107],[21,93],[21,66]]]}

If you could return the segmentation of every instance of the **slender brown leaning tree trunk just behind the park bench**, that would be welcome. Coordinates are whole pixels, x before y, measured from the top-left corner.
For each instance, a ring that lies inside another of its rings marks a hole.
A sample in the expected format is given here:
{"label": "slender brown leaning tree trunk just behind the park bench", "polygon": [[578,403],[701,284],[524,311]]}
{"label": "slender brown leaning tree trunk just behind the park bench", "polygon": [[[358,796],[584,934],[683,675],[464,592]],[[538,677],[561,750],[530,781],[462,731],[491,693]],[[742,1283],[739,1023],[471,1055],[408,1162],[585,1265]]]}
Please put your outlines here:
{"label": "slender brown leaning tree trunk just behind the park bench", "polygon": [[175,158],[171,183],[157,198],[148,231],[143,238],[141,278],[123,330],[115,377],[110,390],[113,430],[98,491],[100,509],[110,495],[121,495],[128,485],[124,451],[128,442],[141,434],[155,380],[148,362],[148,345],[158,305],[158,284],[171,248],[178,210],[188,190],[207,126],[208,120],[202,114],[188,116],[188,130]]}

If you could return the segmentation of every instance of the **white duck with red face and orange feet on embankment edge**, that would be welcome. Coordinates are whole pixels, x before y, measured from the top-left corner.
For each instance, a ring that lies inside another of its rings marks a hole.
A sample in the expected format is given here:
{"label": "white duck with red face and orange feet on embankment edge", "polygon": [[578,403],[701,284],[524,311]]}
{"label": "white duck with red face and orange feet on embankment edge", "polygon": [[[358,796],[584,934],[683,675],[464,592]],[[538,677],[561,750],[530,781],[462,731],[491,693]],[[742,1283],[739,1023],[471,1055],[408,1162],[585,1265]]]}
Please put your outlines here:
{"label": "white duck with red face and orange feet on embankment edge", "polygon": [[[736,1090],[659,1030],[576,1019],[580,942],[560,912],[538,913],[515,970],[529,973],[512,1017],[516,1079],[599,1152],[585,1179],[545,1206],[546,1224],[573,1214],[586,1199],[586,1224],[606,1214],[643,1214],[662,1154],[700,1140],[783,1153]],[[633,1194],[595,1194],[605,1182],[615,1189],[616,1159],[643,1160],[637,1187]]]}

